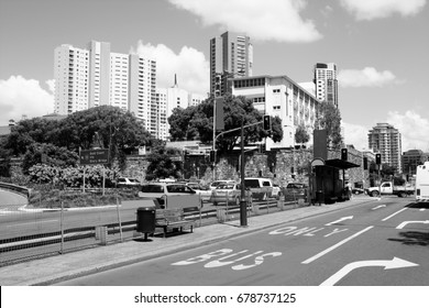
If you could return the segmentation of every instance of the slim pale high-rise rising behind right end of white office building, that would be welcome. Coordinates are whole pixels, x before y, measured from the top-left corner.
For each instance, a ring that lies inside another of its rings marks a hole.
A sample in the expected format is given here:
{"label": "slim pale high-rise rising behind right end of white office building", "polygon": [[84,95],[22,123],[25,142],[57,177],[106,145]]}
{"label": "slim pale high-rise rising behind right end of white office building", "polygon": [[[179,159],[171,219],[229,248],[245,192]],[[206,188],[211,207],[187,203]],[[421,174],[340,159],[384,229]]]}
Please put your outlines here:
{"label": "slim pale high-rise rising behind right end of white office building", "polygon": [[337,65],[333,63],[317,63],[315,65],[316,97],[321,102],[332,103],[338,108]]}

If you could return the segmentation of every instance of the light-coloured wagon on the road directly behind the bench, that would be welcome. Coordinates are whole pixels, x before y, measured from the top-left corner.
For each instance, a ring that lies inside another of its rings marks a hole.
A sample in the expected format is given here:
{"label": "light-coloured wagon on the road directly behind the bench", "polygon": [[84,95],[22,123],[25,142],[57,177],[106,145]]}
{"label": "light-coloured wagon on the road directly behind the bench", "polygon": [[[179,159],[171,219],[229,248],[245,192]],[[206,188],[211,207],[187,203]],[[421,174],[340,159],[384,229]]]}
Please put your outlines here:
{"label": "light-coloured wagon on the road directly behind the bench", "polygon": [[140,198],[156,199],[162,207],[165,204],[166,196],[195,195],[193,188],[184,183],[165,183],[153,182],[141,186],[139,191]]}

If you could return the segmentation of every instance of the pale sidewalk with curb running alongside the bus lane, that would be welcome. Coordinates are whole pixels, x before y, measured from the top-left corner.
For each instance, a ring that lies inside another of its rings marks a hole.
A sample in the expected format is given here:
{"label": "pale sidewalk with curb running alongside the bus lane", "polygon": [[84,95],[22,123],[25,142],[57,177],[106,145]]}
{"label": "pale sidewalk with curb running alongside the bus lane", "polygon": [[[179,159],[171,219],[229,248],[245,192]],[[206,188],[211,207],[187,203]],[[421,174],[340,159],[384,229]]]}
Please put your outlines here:
{"label": "pale sidewalk with curb running alongside the bus lane", "polygon": [[[175,254],[178,252],[183,252],[183,251],[187,251],[187,250],[191,250],[191,249],[196,249],[196,248],[201,248],[204,245],[210,245],[210,244],[213,244],[213,243],[219,242],[219,241],[239,238],[239,237],[242,237],[245,234],[251,234],[251,233],[255,233],[255,232],[258,232],[258,231],[262,231],[265,229],[270,229],[270,228],[273,228],[273,227],[276,227],[279,224],[284,224],[284,223],[288,223],[288,222],[293,222],[293,221],[298,221],[298,220],[301,220],[305,218],[309,218],[309,217],[314,217],[314,216],[318,216],[318,215],[322,215],[322,213],[338,211],[338,210],[341,210],[341,209],[344,209],[344,208],[348,208],[351,206],[361,206],[361,205],[364,205],[364,204],[371,202],[371,201],[373,201],[373,200],[365,199],[365,200],[360,200],[359,202],[352,202],[352,204],[334,204],[334,205],[327,205],[327,206],[321,206],[321,207],[307,206],[307,207],[301,207],[301,208],[296,208],[296,209],[290,209],[290,210],[285,210],[285,211],[278,211],[278,212],[273,212],[273,213],[267,213],[264,216],[256,216],[256,217],[250,218],[250,222],[252,222],[252,220],[256,220],[257,218],[261,219],[262,217],[267,218],[270,216],[284,215],[286,212],[289,213],[289,216],[284,217],[285,218],[284,220],[280,220],[280,221],[277,220],[277,221],[274,221],[271,223],[265,222],[265,223],[260,223],[260,224],[255,223],[255,226],[251,224],[248,227],[240,227],[240,226],[235,224],[237,222],[239,222],[235,220],[235,221],[229,221],[227,223],[217,223],[217,224],[199,227],[196,230],[200,230],[200,229],[204,230],[204,229],[207,229],[210,227],[211,228],[227,227],[227,228],[231,228],[231,230],[227,230],[227,231],[222,230],[227,233],[215,234],[215,235],[212,235],[212,238],[207,239],[207,240],[186,241],[185,244],[179,244],[179,245],[177,245],[177,244],[173,245],[174,244],[173,242],[168,242],[168,243],[166,243],[167,244],[166,246],[161,246],[160,249],[155,249],[154,251],[148,252],[145,255],[122,256],[121,258],[116,258],[116,260],[107,261],[107,262],[102,262],[102,260],[100,260],[100,264],[97,266],[92,265],[92,266],[73,268],[73,270],[68,270],[68,271],[66,270],[65,272],[58,271],[59,273],[55,273],[55,274],[51,274],[51,275],[48,274],[48,276],[45,276],[45,277],[43,277],[43,275],[42,275],[42,277],[38,276],[37,278],[30,278],[29,280],[25,280],[25,282],[21,280],[18,285],[34,285],[34,286],[52,285],[52,284],[65,282],[68,279],[88,276],[88,275],[92,275],[96,273],[131,265],[134,263],[153,260],[153,258],[165,256],[168,254]],[[309,209],[311,209],[311,211],[309,211]],[[295,212],[295,213],[292,213],[292,212]],[[180,237],[185,237],[185,234],[180,235]],[[133,241],[138,242],[139,239],[134,239]],[[130,241],[125,242],[125,244],[129,242]],[[120,250],[121,248],[119,245],[121,245],[121,244],[122,243],[113,244],[113,245],[116,245],[117,249]],[[109,250],[109,249],[111,249],[111,246],[112,245],[105,246],[105,248],[95,248],[94,250],[102,250],[102,249]],[[86,251],[88,251],[88,250],[86,250]],[[76,252],[76,253],[79,253],[79,252]],[[54,256],[54,257],[58,257],[58,256]],[[50,262],[48,258],[45,258],[45,260],[46,260],[46,262]],[[84,262],[85,261],[82,261],[82,263]],[[13,267],[14,265],[11,265],[11,266]],[[0,268],[0,276],[2,276],[1,270],[2,268]],[[14,271],[14,273],[15,273],[15,271]],[[12,283],[12,282],[10,282],[10,283]],[[1,284],[8,285],[7,277],[2,278]]]}

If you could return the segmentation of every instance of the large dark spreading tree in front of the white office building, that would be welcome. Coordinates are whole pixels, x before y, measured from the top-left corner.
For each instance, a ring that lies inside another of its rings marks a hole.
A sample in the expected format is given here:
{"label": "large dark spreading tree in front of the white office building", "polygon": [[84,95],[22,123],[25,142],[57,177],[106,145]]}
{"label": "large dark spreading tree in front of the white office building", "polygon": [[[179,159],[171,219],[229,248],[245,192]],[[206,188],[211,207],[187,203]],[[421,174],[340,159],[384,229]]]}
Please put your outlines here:
{"label": "large dark spreading tree in front of the white office building", "polygon": [[[168,122],[170,125],[172,141],[200,140],[202,143],[213,141],[213,103],[215,97],[210,97],[202,103],[187,109],[175,109]],[[253,102],[244,97],[224,96],[224,131],[239,129],[244,125],[261,122],[262,114],[253,107]],[[218,131],[217,134],[220,132]],[[264,138],[272,138],[275,142],[283,139],[282,120],[272,118],[272,130],[264,131],[261,125],[245,129],[244,142],[254,143]],[[240,140],[240,130],[223,134],[217,139],[216,147],[220,152],[231,152]]]}

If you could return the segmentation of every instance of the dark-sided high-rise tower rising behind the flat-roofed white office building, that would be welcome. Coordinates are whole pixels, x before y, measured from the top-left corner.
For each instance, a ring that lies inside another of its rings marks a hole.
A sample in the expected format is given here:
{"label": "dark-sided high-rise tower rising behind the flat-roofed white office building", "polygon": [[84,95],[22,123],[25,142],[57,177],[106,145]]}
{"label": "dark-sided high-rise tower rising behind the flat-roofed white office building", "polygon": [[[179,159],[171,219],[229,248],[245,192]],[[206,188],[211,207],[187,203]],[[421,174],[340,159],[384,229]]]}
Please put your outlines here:
{"label": "dark-sided high-rise tower rising behind the flat-roofed white office building", "polygon": [[226,32],[210,40],[210,94],[228,91],[230,78],[252,76],[253,46],[244,34]]}

